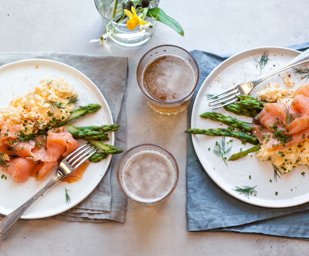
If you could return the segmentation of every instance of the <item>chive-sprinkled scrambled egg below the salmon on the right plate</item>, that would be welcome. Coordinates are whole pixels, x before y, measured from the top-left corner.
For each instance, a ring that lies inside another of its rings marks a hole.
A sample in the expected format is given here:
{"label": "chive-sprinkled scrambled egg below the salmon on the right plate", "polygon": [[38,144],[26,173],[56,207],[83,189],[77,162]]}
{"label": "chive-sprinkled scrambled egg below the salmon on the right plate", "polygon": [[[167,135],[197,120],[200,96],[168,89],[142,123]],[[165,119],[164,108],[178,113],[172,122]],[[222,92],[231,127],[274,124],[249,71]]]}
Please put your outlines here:
{"label": "chive-sprinkled scrambled egg below the salmon on the right plate", "polygon": [[265,145],[261,145],[256,156],[262,160],[270,160],[282,173],[290,172],[298,164],[309,166],[309,138],[292,147],[269,153]]}

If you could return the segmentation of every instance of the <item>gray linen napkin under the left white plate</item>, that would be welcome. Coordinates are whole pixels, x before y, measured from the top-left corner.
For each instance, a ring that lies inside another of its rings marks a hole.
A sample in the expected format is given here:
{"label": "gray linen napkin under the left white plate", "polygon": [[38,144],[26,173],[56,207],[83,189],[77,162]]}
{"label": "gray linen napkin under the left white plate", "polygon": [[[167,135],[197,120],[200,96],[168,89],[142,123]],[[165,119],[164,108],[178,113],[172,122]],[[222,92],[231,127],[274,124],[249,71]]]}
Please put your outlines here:
{"label": "gray linen napkin under the left white plate", "polygon": [[[0,53],[0,65],[24,59],[50,59],[68,64],[88,76],[103,93],[114,122],[121,124],[115,145],[126,150],[125,103],[128,58],[56,52]],[[111,72],[111,71],[117,72]],[[95,190],[72,209],[47,219],[87,222],[125,222],[127,199],[121,192],[116,169],[121,155],[113,155]]]}

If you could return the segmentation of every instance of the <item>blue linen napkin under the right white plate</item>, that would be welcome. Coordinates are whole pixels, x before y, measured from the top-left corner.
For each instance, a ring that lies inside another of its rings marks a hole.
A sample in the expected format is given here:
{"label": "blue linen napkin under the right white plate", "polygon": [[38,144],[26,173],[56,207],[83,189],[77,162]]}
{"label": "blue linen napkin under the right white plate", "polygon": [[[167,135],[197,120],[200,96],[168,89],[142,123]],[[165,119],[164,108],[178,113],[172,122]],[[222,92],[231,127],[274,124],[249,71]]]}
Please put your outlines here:
{"label": "blue linen napkin under the right white plate", "polygon": [[[305,50],[309,42],[289,46]],[[209,73],[229,55],[194,50],[200,68],[193,99]],[[190,128],[193,102],[188,111]],[[224,192],[208,176],[187,137],[187,219],[188,231],[234,231],[309,240],[309,203],[288,208],[265,208],[247,204]]]}

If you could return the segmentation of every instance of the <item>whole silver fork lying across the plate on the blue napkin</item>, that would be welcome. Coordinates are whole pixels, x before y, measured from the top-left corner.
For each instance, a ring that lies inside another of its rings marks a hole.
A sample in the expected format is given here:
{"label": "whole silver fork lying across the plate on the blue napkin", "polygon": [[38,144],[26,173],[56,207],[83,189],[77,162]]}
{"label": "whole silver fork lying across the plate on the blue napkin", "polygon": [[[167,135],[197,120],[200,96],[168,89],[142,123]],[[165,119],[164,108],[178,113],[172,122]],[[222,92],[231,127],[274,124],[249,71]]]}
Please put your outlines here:
{"label": "whole silver fork lying across the plate on the blue napkin", "polygon": [[[294,66],[303,64],[305,62],[309,61],[309,49],[307,49],[305,52],[302,52],[301,54],[299,54],[298,56],[296,56],[294,59],[290,60],[289,62],[287,62],[286,64],[284,64],[283,66],[275,69],[274,71],[268,73],[265,76],[259,76],[258,78],[249,81],[249,82],[245,82],[236,86],[233,86],[221,93],[218,93],[210,98],[208,98],[209,104],[210,106],[216,106],[213,109],[218,109],[218,108],[222,108],[226,105],[229,105],[231,103],[234,103],[235,101],[237,101],[238,99],[236,98],[236,95],[240,95],[240,94],[249,94],[252,89],[260,84],[261,82],[265,81],[267,78],[276,75],[277,73],[280,73],[281,71],[284,71],[288,68],[292,68]],[[222,104],[223,103],[223,104]]]}

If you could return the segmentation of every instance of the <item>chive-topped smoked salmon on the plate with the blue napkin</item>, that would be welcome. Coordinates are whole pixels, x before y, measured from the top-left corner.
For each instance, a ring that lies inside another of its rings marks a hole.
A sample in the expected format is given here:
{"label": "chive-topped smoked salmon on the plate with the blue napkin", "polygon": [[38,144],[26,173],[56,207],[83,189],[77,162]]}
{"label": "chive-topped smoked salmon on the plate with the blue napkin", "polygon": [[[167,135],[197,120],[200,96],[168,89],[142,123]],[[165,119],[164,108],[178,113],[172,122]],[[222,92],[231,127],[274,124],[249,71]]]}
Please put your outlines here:
{"label": "chive-topped smoked salmon on the plate with the blue napkin", "polygon": [[295,91],[291,104],[265,103],[252,127],[253,134],[269,151],[301,142],[309,135],[309,84]]}

